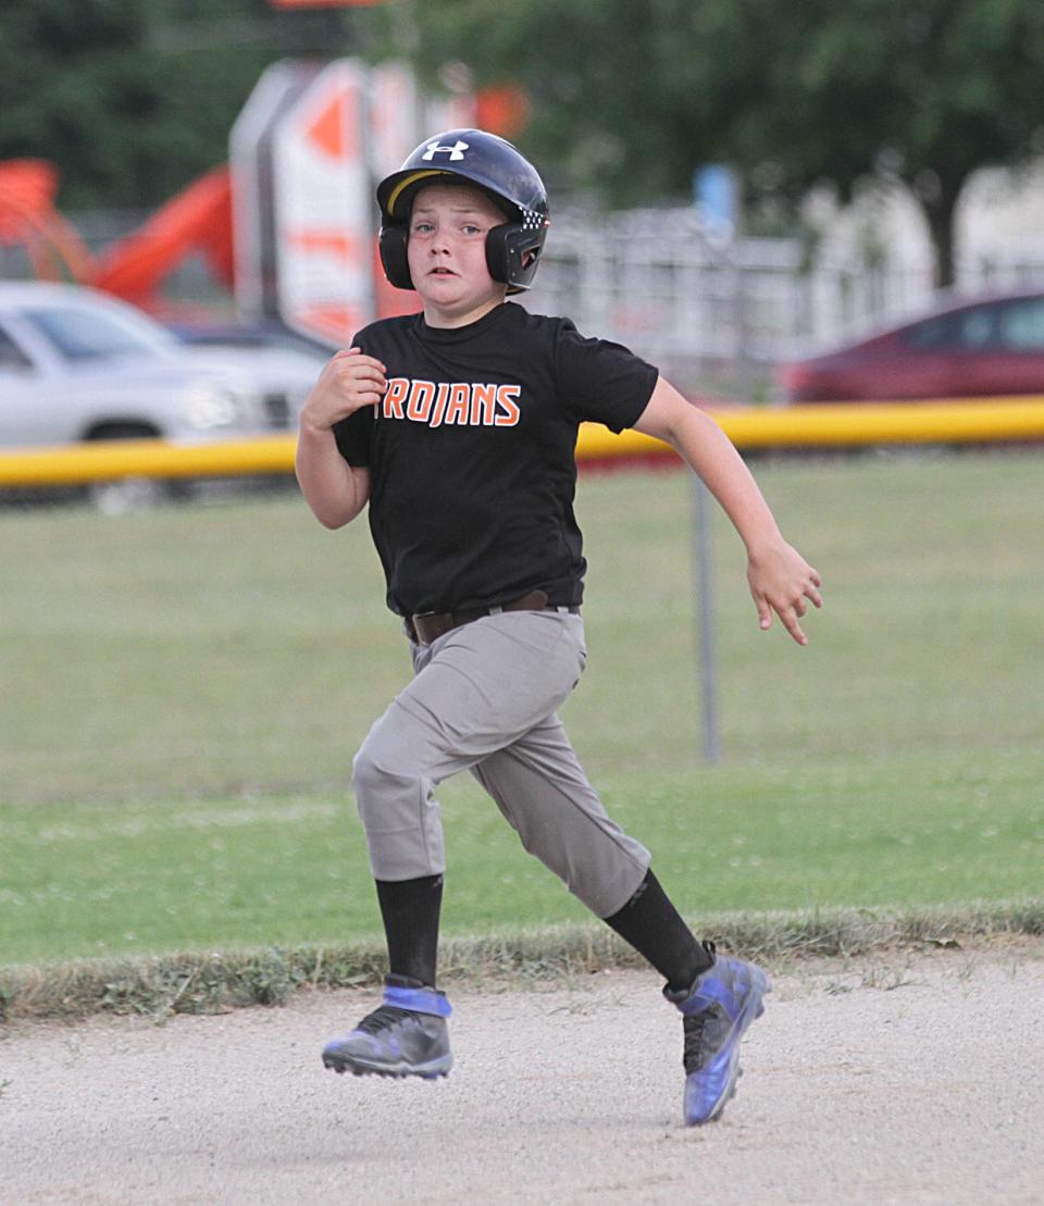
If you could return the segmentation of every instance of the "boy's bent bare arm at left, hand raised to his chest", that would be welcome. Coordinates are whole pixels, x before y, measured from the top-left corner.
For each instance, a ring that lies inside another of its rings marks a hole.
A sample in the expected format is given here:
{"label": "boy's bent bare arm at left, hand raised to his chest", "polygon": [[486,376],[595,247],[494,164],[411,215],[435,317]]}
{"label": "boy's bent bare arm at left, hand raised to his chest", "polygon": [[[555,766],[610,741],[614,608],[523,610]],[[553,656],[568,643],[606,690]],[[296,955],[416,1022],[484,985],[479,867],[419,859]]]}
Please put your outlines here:
{"label": "boy's bent bare arm at left, hand raised to his chest", "polygon": [[329,361],[301,409],[298,482],[324,527],[350,523],[370,497],[370,470],[345,461],[334,425],[363,406],[379,405],[386,388],[385,365],[352,347]]}

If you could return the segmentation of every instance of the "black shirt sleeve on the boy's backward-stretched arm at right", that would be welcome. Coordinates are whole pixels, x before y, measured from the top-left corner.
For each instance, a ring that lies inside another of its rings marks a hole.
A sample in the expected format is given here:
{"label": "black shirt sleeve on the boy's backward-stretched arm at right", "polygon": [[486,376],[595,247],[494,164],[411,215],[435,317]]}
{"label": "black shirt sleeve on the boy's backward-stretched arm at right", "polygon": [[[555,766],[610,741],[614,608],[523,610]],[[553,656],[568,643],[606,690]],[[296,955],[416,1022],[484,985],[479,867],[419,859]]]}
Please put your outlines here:
{"label": "black shirt sleeve on the boy's backward-stretched arm at right", "polygon": [[653,364],[627,347],[581,335],[569,320],[558,328],[555,357],[562,405],[614,432],[638,422],[659,376]]}

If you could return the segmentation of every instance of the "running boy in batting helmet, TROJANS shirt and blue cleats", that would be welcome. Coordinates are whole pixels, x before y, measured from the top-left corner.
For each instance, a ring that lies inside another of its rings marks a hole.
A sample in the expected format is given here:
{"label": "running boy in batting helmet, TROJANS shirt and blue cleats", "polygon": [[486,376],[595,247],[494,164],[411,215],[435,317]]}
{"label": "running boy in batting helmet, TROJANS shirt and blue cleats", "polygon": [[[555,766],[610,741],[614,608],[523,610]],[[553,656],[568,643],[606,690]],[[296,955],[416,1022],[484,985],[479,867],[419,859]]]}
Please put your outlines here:
{"label": "running boy in batting helmet, TROJANS shirt and blue cleats", "polygon": [[369,505],[387,603],[415,677],[356,755],[353,788],[388,946],[383,1002],[330,1042],[338,1072],[445,1076],[436,989],[446,860],[435,789],[470,771],[522,844],[664,977],[682,1014],[685,1118],[716,1118],[762,1013],[761,968],[698,942],[605,813],[556,715],[583,671],[586,562],[573,514],[583,420],[670,444],[725,508],[749,556],[762,628],[798,644],[819,574],[781,537],[721,428],[624,347],[506,300],[547,230],[534,168],[481,130],[422,144],[377,188],[388,280],[423,312],[358,332],[301,414],[297,472],[318,520]]}

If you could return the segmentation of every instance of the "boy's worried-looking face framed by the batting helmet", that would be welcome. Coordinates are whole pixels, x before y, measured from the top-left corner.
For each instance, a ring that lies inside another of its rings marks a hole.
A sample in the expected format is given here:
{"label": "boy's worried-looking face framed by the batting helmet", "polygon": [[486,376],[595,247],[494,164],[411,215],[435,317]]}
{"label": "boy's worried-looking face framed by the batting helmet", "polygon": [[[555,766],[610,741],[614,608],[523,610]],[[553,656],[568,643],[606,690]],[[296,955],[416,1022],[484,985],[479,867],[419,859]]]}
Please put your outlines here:
{"label": "boy's worried-looking face framed by the batting helmet", "polygon": [[486,235],[506,218],[477,188],[418,189],[406,247],[410,276],[433,327],[463,327],[499,305],[506,286],[486,267]]}

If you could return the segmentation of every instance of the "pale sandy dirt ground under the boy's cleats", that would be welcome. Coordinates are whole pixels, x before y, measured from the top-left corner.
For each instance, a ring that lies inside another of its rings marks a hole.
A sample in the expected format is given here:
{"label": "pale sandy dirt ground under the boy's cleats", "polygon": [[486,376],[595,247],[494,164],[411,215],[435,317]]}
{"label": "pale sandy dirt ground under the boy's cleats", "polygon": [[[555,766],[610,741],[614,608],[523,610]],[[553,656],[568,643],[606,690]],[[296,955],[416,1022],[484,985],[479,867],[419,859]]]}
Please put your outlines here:
{"label": "pale sandy dirt ground under the boy's cleats", "polygon": [[435,1084],[338,1077],[373,996],[0,1041],[0,1201],[1044,1202],[1044,942],[774,977],[723,1118],[681,1125],[655,977],[451,994]]}

